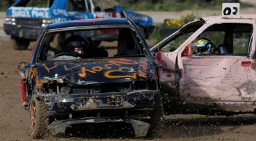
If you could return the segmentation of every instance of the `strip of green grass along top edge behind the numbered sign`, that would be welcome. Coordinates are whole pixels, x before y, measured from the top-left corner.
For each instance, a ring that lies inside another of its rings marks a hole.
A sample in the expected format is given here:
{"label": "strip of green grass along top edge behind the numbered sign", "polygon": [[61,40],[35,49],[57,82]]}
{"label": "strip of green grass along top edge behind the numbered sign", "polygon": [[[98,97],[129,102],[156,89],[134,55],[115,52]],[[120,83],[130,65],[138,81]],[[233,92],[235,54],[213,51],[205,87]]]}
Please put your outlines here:
{"label": "strip of green grass along top edge behind the numbered sign", "polygon": [[[165,2],[165,3],[147,3],[147,2],[139,2],[136,5],[126,6],[121,5],[122,8],[130,9],[133,11],[173,11],[180,12],[184,10],[192,10],[192,9],[212,9],[219,10],[222,7],[222,0],[212,1],[210,3],[195,3],[194,0],[186,0],[183,3],[175,3],[175,2]],[[240,9],[255,7],[250,3],[241,3]]]}

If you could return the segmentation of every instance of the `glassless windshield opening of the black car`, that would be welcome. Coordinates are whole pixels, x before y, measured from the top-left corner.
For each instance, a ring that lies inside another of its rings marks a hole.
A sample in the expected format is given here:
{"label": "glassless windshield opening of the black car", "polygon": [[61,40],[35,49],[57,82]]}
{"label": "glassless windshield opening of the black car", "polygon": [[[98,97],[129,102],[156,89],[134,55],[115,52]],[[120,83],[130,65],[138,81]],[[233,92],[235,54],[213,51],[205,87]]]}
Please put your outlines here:
{"label": "glassless windshield opening of the black car", "polygon": [[139,37],[130,27],[46,33],[40,62],[85,58],[145,56]]}

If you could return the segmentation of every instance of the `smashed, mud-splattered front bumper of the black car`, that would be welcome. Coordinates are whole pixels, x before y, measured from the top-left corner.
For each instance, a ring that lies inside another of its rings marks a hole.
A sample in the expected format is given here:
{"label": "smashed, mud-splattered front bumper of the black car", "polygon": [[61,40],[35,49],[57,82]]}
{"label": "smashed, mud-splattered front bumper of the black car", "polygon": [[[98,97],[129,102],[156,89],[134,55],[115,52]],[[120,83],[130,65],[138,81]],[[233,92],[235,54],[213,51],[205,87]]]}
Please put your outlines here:
{"label": "smashed, mud-splattered front bumper of the black car", "polygon": [[103,94],[45,94],[42,95],[48,116],[55,121],[48,125],[53,133],[80,123],[131,123],[134,134],[142,137],[150,127],[157,90]]}

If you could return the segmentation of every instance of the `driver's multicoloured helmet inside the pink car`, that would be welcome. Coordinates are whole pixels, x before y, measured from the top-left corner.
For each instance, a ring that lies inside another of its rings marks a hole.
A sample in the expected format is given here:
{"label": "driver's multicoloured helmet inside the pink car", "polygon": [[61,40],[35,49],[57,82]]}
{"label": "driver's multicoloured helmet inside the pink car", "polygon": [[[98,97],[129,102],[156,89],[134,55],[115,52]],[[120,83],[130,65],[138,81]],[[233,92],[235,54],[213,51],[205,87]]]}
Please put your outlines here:
{"label": "driver's multicoloured helmet inside the pink car", "polygon": [[215,49],[214,43],[210,39],[201,38],[192,45],[192,54],[213,54]]}

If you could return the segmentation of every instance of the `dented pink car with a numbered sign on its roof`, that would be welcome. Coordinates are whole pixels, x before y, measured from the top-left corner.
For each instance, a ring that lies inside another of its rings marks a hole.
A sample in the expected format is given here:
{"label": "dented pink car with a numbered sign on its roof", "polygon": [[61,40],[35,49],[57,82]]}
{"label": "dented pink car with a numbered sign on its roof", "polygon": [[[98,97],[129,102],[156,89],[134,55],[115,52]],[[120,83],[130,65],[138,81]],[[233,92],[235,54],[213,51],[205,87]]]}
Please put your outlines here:
{"label": "dented pink car with a numbered sign on its roof", "polygon": [[[255,20],[255,14],[204,17],[151,48],[165,113],[255,113]],[[213,54],[193,54],[202,38],[213,43]]]}

